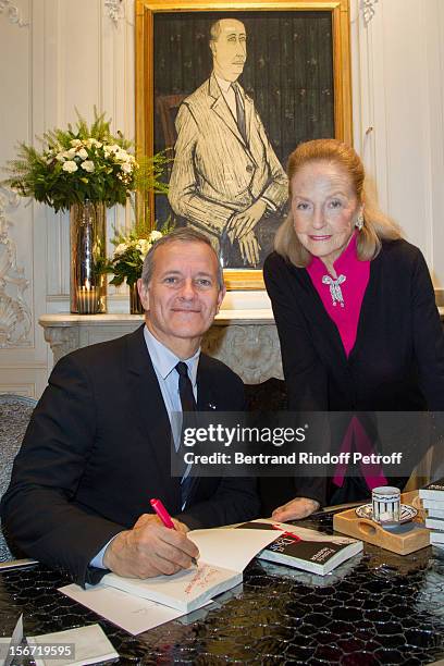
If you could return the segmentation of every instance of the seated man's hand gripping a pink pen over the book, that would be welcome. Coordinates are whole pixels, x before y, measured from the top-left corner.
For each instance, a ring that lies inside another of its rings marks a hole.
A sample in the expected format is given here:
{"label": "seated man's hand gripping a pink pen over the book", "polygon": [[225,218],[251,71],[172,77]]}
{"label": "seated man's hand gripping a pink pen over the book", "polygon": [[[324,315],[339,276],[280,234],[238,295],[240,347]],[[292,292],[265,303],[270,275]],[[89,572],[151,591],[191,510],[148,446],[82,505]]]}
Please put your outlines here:
{"label": "seated man's hand gripping a pink pen over the book", "polygon": [[186,538],[188,528],[178,520],[173,522],[175,530],[169,530],[158,516],[141,515],[132,530],[121,532],[111,541],[104,551],[103,565],[128,578],[171,576],[187,569],[199,551]]}

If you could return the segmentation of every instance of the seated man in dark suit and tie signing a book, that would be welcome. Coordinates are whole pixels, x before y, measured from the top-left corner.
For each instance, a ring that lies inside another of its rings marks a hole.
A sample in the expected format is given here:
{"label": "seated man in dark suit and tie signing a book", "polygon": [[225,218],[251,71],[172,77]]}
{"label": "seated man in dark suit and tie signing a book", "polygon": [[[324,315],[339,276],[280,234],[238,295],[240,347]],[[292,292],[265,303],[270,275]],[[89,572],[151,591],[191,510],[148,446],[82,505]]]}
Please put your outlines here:
{"label": "seated man in dark suit and tie signing a book", "polygon": [[[107,569],[174,574],[198,555],[188,529],[258,511],[252,480],[170,471],[172,434],[180,446],[172,415],[182,410],[184,386],[198,409],[244,408],[239,378],[200,354],[225,293],[209,240],[186,229],[158,240],[138,287],[145,325],[57,363],[2,501],[13,551],[67,569],[81,584]],[[152,515],[150,497],[177,517],[176,530]]]}

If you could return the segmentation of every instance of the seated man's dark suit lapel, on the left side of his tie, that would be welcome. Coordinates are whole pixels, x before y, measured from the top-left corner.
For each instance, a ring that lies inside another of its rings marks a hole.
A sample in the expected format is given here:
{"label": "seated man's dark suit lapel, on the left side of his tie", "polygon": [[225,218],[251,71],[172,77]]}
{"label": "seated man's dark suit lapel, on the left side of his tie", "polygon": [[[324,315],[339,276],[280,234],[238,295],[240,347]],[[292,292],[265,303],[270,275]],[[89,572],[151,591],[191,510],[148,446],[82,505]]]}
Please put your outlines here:
{"label": "seated man's dark suit lapel, on the left side of his tie", "polygon": [[132,417],[150,448],[161,485],[164,488],[163,502],[169,507],[178,507],[180,479],[171,477],[170,471],[172,445],[170,419],[145,343],[144,326],[145,324],[127,338],[126,366]]}

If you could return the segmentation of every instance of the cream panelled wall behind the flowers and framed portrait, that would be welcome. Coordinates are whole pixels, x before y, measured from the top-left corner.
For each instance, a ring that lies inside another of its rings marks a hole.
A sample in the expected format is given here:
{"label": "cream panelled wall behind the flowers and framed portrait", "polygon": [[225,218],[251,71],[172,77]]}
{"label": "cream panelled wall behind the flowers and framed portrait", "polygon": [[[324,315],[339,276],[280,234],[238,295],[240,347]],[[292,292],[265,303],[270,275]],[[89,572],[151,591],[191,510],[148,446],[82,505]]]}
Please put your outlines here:
{"label": "cream panelled wall behind the flowers and framed portrait", "polygon": [[[112,118],[113,131],[133,138],[134,0],[122,2],[116,22],[104,0],[15,5],[29,26],[0,13],[2,163],[17,140],[75,122],[75,107],[90,121],[96,104]],[[382,208],[421,247],[435,285],[444,286],[444,2],[374,0],[367,2],[373,10],[367,23],[362,5],[350,0],[355,146]],[[37,319],[69,308],[69,219],[24,200],[8,217],[29,281],[33,329],[27,347],[0,349],[0,391],[38,395],[50,355]],[[109,236],[131,218],[130,210],[110,211]],[[122,295],[110,294],[119,308]]]}

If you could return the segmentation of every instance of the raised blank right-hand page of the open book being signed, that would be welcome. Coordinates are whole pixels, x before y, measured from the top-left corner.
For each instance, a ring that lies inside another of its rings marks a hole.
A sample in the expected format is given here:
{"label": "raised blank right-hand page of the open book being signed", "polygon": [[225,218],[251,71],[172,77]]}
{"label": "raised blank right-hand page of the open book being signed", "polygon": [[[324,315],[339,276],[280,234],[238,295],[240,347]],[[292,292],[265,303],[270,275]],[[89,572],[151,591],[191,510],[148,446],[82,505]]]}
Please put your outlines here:
{"label": "raised blank right-hand page of the open book being signed", "polygon": [[279,531],[223,528],[193,530],[187,536],[199,548],[199,566],[205,563],[240,572],[255,555],[278,539]]}

